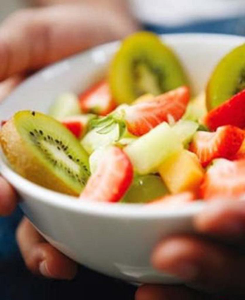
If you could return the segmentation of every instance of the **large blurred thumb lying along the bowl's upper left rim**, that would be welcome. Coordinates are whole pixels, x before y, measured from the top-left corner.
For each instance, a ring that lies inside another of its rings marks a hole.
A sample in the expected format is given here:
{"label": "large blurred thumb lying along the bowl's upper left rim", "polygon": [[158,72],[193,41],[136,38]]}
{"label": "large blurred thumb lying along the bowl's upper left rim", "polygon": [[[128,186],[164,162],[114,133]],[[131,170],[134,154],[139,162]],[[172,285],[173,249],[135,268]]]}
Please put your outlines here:
{"label": "large blurred thumb lying along the bowl's upper left rim", "polygon": [[0,80],[121,38],[132,31],[129,24],[103,7],[86,4],[17,12],[0,28]]}

